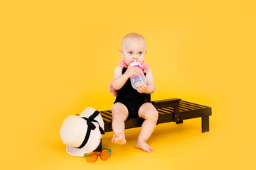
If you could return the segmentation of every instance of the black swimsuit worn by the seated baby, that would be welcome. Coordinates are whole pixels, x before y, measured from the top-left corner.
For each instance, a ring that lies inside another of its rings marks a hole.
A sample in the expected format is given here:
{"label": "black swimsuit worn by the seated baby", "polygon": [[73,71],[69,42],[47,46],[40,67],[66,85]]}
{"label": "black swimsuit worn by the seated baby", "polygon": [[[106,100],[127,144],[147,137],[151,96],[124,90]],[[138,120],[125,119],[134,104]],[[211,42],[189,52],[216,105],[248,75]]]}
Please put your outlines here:
{"label": "black swimsuit worn by the seated baby", "polygon": [[[126,72],[127,68],[122,69],[122,74]],[[146,103],[147,94],[140,94],[137,90],[132,88],[131,80],[128,79],[121,89],[117,90],[117,98],[114,103],[122,103],[129,111],[128,119],[139,118],[139,108]]]}

